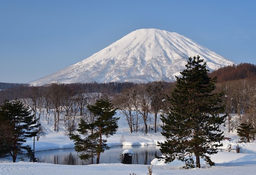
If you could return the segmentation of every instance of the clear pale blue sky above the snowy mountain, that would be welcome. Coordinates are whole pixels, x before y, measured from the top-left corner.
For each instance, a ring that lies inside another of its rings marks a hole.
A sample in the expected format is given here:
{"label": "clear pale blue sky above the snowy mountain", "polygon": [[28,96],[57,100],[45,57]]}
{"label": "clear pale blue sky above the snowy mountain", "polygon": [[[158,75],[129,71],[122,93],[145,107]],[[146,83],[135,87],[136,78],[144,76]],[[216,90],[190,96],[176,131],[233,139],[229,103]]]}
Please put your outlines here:
{"label": "clear pale blue sky above the snowy mountain", "polygon": [[256,64],[255,9],[254,0],[0,0],[0,82],[47,76],[141,28]]}

